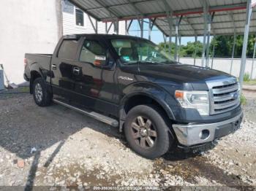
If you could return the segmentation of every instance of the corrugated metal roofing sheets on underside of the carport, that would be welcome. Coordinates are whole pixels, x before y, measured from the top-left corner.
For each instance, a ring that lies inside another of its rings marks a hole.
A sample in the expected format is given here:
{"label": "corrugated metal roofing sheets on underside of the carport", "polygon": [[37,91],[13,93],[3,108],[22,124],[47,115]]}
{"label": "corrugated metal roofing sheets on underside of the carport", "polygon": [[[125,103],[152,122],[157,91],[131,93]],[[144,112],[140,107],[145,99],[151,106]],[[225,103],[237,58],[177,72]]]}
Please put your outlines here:
{"label": "corrugated metal roofing sheets on underside of the carport", "polygon": [[[166,12],[173,11],[173,23],[184,15],[179,27],[181,36],[203,35],[203,5],[200,0],[69,0],[97,20],[130,20],[156,17],[155,25],[165,35],[170,34]],[[164,3],[167,2],[167,4]],[[215,12],[211,34],[233,34],[233,19],[237,34],[243,34],[246,0],[208,0],[209,12]],[[167,6],[165,6],[167,5]],[[255,12],[255,10],[253,11]],[[256,15],[252,14],[251,32],[256,32]],[[173,26],[172,34],[175,28]]]}

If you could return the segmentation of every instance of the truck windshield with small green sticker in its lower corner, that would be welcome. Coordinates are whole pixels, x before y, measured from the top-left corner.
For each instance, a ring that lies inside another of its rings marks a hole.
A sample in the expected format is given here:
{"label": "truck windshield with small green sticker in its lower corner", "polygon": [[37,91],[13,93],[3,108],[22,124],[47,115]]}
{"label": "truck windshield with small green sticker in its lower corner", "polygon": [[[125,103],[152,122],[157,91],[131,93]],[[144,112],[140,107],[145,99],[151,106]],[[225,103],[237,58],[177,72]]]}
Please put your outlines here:
{"label": "truck windshield with small green sticker in its lower corner", "polygon": [[124,64],[171,64],[175,63],[157,45],[143,39],[112,39],[111,44]]}

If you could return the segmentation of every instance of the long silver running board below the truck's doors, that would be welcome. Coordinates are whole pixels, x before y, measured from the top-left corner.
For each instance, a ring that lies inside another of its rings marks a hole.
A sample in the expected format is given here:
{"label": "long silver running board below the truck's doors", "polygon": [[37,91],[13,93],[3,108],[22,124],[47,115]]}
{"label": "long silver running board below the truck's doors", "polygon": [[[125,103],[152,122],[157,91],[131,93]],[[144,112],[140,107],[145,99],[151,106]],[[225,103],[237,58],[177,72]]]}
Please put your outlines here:
{"label": "long silver running board below the truck's doors", "polygon": [[59,101],[57,99],[53,99],[53,102],[55,102],[56,104],[60,104],[61,106],[65,106],[65,107],[67,107],[69,109],[75,110],[76,112],[80,112],[82,114],[86,114],[89,117],[94,118],[95,120],[99,120],[101,122],[105,122],[106,124],[111,125],[113,127],[118,127],[118,121],[117,120],[115,120],[113,118],[110,118],[110,117],[107,117],[107,116],[105,116],[103,114],[99,114],[97,112],[91,112],[88,109],[80,109],[78,107],[71,106],[71,105],[66,104],[63,101]]}

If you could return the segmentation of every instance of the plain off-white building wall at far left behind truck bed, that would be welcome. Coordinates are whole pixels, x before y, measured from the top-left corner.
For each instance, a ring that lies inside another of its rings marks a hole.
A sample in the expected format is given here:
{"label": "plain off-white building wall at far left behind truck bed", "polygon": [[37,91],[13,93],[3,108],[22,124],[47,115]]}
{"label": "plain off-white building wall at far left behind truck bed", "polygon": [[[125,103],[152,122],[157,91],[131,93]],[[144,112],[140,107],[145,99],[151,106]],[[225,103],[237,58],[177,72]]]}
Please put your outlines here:
{"label": "plain off-white building wall at far left behind truck bed", "polygon": [[59,5],[59,0],[1,1],[0,63],[12,82],[24,81],[26,52],[53,52],[62,33]]}

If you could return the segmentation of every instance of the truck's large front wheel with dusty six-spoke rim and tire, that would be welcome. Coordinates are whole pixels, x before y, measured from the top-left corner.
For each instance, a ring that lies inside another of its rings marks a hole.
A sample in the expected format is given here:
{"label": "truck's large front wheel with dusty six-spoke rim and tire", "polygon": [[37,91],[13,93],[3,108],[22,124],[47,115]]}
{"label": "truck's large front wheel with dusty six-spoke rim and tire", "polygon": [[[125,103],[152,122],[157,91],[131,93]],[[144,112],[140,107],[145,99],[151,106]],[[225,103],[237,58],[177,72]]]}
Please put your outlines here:
{"label": "truck's large front wheel with dusty six-spoke rim and tire", "polygon": [[128,112],[124,123],[124,134],[129,146],[148,159],[164,155],[173,142],[168,134],[167,121],[157,106],[135,106]]}

